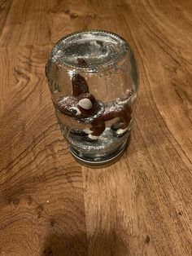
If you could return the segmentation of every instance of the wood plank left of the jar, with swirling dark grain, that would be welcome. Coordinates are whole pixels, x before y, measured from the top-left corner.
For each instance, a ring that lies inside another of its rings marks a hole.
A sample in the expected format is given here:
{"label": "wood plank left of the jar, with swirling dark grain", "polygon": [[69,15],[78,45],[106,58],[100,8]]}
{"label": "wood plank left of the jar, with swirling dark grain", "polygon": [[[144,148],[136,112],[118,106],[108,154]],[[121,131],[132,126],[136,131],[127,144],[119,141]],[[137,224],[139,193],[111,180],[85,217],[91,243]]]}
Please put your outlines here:
{"label": "wood plank left of the jar, with swirling dark grain", "polygon": [[2,29],[0,255],[87,252],[81,166],[60,133],[44,74],[61,36],[51,27],[53,6],[14,1]]}

